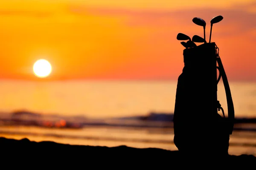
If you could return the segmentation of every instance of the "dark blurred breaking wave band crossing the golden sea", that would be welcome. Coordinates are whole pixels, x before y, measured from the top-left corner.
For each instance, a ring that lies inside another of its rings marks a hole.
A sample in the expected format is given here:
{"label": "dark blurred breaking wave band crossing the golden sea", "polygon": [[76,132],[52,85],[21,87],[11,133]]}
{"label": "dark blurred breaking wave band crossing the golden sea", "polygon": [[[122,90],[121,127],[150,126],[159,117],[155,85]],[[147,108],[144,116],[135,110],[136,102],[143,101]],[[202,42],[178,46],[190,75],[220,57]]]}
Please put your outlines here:
{"label": "dark blurred breaking wave band crossing the golden sea", "polygon": [[[0,125],[47,128],[83,128],[87,126],[173,128],[173,113],[150,112],[145,116],[92,119],[86,116],[61,116],[30,111],[0,113]],[[256,131],[256,118],[236,118],[234,130]]]}

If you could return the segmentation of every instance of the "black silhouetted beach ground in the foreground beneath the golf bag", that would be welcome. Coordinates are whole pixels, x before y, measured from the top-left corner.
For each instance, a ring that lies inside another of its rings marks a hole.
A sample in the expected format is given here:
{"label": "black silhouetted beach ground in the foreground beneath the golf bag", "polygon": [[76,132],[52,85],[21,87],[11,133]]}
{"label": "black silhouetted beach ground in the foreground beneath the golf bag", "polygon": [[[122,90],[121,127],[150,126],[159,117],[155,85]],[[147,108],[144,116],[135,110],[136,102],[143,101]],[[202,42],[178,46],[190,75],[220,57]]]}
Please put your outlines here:
{"label": "black silhouetted beach ground in the foreground beneath the golf bag", "polygon": [[[52,169],[58,167],[70,169],[180,169],[196,167],[212,169],[224,167],[232,169],[254,169],[256,157],[252,155],[229,156],[225,160],[205,162],[192,153],[189,160],[181,158],[179,151],[169,151],[157,148],[133,148],[126,146],[99,147],[59,144],[55,142],[32,142],[29,139],[15,140],[0,138],[1,162],[11,162],[9,165],[32,166],[41,169],[46,166]],[[208,158],[209,156],[201,156]],[[215,156],[209,157],[209,160]],[[193,159],[197,158],[197,159]],[[18,163],[19,162],[19,163]],[[21,164],[20,164],[21,163]],[[77,168],[76,168],[77,167]],[[48,168],[47,168],[48,169]]]}

